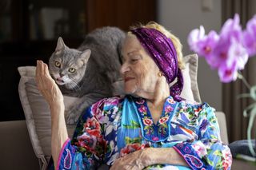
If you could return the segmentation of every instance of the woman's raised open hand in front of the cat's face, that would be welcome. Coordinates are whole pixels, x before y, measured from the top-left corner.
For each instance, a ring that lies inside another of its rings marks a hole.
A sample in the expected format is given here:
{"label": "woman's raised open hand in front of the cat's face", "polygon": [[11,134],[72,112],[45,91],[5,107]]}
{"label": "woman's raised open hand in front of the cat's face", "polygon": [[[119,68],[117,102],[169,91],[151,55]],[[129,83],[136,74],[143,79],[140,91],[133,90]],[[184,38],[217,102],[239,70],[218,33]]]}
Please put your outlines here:
{"label": "woman's raised open hand in front of the cat's face", "polygon": [[43,61],[37,61],[35,80],[38,84],[38,89],[45,97],[48,104],[63,105],[63,95],[54,79],[50,77],[48,66]]}

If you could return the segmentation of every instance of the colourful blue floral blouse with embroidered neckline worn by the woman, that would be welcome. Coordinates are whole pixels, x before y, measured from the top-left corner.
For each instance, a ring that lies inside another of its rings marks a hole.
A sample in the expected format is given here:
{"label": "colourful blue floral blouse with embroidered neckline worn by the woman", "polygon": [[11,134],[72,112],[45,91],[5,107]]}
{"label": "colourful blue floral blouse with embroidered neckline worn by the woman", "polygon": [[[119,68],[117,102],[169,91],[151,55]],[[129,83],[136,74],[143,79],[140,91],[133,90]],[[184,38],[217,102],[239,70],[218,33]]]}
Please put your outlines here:
{"label": "colourful blue floral blouse with embroidered neckline worn by the woman", "polygon": [[[131,96],[102,99],[80,117],[66,140],[59,169],[94,169],[143,148],[174,148],[190,166],[154,164],[146,169],[230,169],[230,148],[222,144],[218,121],[208,104],[168,97],[154,124],[146,100]],[[171,159],[171,158],[170,158]]]}

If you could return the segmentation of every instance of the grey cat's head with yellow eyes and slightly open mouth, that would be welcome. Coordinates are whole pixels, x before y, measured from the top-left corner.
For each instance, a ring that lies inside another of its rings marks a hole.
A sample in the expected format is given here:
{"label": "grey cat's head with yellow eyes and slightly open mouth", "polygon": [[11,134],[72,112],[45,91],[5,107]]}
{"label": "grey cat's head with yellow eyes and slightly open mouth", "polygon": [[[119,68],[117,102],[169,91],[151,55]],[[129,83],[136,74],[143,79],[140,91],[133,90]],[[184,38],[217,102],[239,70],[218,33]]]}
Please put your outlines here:
{"label": "grey cat's head with yellow eyes and slightly open mouth", "polygon": [[79,88],[78,83],[86,72],[86,65],[90,57],[90,49],[83,52],[68,48],[62,39],[50,57],[50,75],[58,85],[65,85],[66,89]]}

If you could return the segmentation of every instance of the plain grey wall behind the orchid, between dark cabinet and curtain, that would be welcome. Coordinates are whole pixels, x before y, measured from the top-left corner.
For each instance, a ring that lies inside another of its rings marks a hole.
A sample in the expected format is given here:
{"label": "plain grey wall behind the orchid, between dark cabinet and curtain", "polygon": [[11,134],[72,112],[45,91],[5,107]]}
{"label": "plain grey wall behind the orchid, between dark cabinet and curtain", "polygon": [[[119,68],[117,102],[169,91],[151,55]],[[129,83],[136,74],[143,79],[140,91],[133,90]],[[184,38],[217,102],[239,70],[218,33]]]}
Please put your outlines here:
{"label": "plain grey wall behind the orchid, between dark cabinet and curtain", "polygon": [[[203,0],[158,0],[157,22],[171,30],[183,45],[183,54],[192,53],[187,45],[190,30],[204,26],[206,33],[221,28],[222,2],[211,0],[213,10],[202,10]],[[217,70],[211,70],[203,58],[198,62],[198,87],[202,101],[208,102],[216,110],[222,110],[222,83]]]}

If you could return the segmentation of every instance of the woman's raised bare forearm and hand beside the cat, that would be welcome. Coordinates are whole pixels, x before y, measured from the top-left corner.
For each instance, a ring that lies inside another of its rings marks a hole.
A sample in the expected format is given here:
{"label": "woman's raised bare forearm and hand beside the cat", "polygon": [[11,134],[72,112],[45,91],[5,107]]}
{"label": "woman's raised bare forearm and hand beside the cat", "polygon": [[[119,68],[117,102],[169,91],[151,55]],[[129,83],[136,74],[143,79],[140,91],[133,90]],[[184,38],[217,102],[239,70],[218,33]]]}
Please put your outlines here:
{"label": "woman's raised bare forearm and hand beside the cat", "polygon": [[63,96],[58,85],[50,77],[48,66],[42,61],[37,61],[36,82],[38,89],[50,105],[51,114],[51,152],[54,159],[55,169],[58,163],[58,156],[62,145],[68,139],[66,123],[64,118]]}

